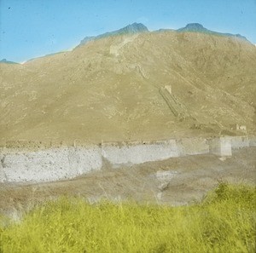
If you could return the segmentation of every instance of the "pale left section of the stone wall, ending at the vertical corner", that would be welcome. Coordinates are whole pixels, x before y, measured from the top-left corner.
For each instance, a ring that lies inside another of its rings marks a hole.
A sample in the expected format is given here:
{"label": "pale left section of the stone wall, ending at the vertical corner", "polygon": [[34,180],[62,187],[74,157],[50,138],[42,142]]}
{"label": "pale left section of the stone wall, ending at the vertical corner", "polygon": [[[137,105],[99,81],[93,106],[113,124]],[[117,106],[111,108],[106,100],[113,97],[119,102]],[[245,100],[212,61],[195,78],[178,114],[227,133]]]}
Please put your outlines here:
{"label": "pale left section of the stone wall, ending at the vertical corner", "polygon": [[102,168],[100,147],[1,151],[0,181],[57,181]]}

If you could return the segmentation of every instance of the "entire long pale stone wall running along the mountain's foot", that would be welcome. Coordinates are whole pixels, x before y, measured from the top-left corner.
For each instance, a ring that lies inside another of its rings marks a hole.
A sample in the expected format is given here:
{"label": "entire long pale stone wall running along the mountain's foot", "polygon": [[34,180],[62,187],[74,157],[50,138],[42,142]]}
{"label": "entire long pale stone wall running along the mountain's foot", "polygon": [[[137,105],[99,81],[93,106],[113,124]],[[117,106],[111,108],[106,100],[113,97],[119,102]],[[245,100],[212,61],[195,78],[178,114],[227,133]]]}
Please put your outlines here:
{"label": "entire long pale stone wall running along the mountain's foot", "polygon": [[[21,141],[22,142],[22,141]],[[7,143],[8,144],[8,143]],[[22,145],[21,145],[22,146]],[[108,161],[117,168],[168,158],[212,153],[230,157],[232,150],[256,147],[255,136],[182,138],[165,141],[102,142],[99,145],[25,149],[0,147],[0,182],[42,182],[71,179],[102,170]]]}

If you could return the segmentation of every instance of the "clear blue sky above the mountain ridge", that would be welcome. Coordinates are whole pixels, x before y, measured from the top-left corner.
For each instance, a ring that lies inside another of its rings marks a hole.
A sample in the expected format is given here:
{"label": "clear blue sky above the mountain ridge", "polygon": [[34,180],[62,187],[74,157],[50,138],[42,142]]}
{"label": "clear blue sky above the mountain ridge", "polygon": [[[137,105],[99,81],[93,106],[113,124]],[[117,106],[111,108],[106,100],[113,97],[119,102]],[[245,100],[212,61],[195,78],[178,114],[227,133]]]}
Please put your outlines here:
{"label": "clear blue sky above the mountain ridge", "polygon": [[0,0],[0,60],[72,49],[133,22],[150,31],[197,22],[256,43],[256,0]]}

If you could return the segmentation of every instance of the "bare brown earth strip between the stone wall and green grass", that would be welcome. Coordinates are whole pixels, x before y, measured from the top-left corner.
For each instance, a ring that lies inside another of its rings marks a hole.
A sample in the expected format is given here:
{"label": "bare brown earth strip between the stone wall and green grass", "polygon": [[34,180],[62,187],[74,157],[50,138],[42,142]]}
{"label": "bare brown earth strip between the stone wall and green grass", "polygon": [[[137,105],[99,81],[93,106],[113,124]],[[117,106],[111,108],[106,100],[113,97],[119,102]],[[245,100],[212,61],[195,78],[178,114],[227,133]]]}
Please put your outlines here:
{"label": "bare brown earth strip between the stone wall and green grass", "polygon": [[[172,179],[161,181],[157,172],[171,171]],[[256,147],[233,152],[231,158],[197,155],[112,168],[71,181],[33,185],[1,184],[0,213],[20,216],[35,204],[60,196],[79,196],[92,202],[102,198],[140,203],[181,205],[200,201],[219,181],[256,185]]]}

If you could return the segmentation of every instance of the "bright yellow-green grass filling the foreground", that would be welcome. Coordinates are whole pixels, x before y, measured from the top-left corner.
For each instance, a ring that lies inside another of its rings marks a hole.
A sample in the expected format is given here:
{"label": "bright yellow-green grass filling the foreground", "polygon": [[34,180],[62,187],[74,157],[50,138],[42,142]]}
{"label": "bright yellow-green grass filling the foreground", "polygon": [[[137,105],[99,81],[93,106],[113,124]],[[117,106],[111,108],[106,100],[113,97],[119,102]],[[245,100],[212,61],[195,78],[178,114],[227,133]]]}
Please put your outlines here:
{"label": "bright yellow-green grass filling the foreground", "polygon": [[62,198],[0,228],[0,252],[255,252],[255,204],[225,183],[187,207]]}

